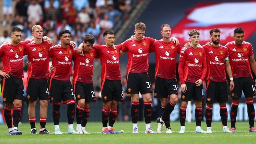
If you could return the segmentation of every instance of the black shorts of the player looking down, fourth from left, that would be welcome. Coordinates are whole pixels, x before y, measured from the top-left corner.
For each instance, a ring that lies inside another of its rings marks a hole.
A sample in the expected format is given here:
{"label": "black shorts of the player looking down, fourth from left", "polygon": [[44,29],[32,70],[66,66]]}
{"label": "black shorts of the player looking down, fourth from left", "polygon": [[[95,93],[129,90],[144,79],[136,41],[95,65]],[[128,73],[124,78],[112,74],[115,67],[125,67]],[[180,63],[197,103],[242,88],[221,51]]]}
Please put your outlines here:
{"label": "black shorts of the player looking down, fourth from left", "polygon": [[94,88],[92,83],[82,83],[77,81],[74,83],[74,93],[76,101],[85,99],[85,102],[96,102]]}

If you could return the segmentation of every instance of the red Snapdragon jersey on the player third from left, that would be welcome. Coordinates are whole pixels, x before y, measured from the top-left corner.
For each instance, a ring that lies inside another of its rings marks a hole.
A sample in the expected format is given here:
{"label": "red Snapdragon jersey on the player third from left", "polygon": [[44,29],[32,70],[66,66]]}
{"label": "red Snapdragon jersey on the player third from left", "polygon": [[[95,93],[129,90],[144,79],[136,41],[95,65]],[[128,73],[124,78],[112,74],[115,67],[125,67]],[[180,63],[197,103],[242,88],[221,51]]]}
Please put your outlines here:
{"label": "red Snapdragon jersey on the player third from left", "polygon": [[73,50],[73,45],[68,45],[67,48],[61,47],[60,44],[50,47],[49,58],[52,58],[52,65],[55,67],[55,70],[50,72],[51,78],[70,81]]}

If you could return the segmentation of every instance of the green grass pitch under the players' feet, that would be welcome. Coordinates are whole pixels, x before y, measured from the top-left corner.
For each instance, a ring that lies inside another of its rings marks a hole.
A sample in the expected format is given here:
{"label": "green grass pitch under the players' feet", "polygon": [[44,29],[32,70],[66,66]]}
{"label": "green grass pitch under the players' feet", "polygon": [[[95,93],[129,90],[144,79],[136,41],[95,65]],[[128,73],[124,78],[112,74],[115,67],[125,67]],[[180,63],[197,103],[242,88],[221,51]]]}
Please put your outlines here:
{"label": "green grass pitch under the players' feet", "polygon": [[[88,122],[86,125],[89,135],[68,135],[68,123],[60,123],[60,130],[63,135],[31,135],[30,124],[22,123],[19,125],[19,130],[23,132],[22,135],[8,135],[6,125],[0,125],[0,144],[249,144],[256,142],[256,133],[249,133],[248,122],[237,122],[236,133],[221,133],[221,122],[212,123],[212,134],[195,134],[195,122],[185,123],[186,133],[178,134],[180,130],[179,122],[171,122],[172,134],[165,134],[165,126],[163,127],[163,134],[144,134],[145,123],[139,122],[139,134],[132,134],[132,122],[116,122],[114,129],[116,131],[124,130],[123,134],[101,134],[101,122]],[[39,122],[36,123],[39,128]],[[230,122],[228,122],[230,126]],[[151,127],[157,130],[157,123],[152,121]],[[202,122],[201,127],[206,131],[206,124]],[[46,128],[54,133],[53,123],[46,123]],[[74,124],[76,128],[76,124]],[[39,132],[38,132],[39,133]]]}

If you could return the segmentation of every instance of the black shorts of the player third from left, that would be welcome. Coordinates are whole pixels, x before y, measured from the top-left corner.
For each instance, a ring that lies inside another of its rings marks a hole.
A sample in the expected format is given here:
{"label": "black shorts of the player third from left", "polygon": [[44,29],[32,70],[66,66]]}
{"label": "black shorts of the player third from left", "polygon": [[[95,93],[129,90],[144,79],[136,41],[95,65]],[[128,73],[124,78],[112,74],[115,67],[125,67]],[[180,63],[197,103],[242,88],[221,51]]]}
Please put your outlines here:
{"label": "black shorts of the player third from left", "polygon": [[51,103],[74,100],[74,91],[70,81],[59,81],[50,78],[49,91]]}

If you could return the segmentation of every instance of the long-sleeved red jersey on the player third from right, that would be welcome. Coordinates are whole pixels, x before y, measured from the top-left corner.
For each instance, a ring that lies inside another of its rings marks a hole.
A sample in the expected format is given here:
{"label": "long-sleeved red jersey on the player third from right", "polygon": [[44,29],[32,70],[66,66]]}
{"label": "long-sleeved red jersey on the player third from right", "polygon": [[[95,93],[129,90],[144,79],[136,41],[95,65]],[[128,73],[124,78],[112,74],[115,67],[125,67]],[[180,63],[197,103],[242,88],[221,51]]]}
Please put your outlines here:
{"label": "long-sleeved red jersey on the player third from right", "polygon": [[179,54],[179,79],[181,84],[184,81],[195,83],[201,79],[204,81],[206,75],[206,56],[203,48],[183,47]]}

